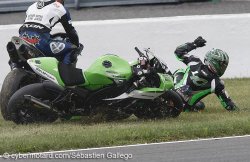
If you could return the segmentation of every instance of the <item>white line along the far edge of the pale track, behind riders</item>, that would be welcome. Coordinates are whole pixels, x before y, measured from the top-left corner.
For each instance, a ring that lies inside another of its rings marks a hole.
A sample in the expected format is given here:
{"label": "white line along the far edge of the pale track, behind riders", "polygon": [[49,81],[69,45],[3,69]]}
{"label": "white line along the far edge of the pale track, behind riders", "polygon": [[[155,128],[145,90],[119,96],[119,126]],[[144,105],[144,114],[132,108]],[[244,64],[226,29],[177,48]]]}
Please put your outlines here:
{"label": "white line along the far edge of the pale track, behind riders", "polygon": [[[221,15],[192,15],[192,16],[174,16],[174,17],[73,21],[73,24],[74,26],[105,25],[105,24],[114,25],[114,24],[128,24],[128,23],[154,23],[154,22],[162,22],[162,21],[166,22],[166,21],[207,20],[207,19],[211,20],[211,19],[232,19],[232,18],[250,18],[250,14],[243,13],[243,14],[221,14]],[[0,30],[18,29],[20,26],[21,24],[0,25]]]}

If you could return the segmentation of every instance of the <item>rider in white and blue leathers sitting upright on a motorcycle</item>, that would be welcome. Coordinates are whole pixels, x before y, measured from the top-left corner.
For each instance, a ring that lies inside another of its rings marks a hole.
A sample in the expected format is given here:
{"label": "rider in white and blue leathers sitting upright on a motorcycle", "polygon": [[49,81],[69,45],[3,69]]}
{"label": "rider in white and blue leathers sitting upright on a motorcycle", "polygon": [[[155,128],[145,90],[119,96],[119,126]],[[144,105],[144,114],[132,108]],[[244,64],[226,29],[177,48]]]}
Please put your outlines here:
{"label": "rider in white and blue leathers sitting upright on a motorcycle", "polygon": [[[58,22],[64,27],[70,41],[51,38],[50,31]],[[74,63],[76,49],[83,48],[63,0],[39,0],[32,4],[26,11],[26,19],[19,34],[46,56],[56,57],[65,64]]]}

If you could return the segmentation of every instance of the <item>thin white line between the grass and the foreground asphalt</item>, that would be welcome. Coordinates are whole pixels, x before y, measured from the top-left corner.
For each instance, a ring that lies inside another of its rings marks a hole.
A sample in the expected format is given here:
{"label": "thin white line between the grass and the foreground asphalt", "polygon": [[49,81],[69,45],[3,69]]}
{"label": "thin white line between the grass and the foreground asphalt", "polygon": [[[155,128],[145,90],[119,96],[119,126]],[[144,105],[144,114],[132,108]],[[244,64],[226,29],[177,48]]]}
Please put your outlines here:
{"label": "thin white line between the grass and the foreground asphalt", "polygon": [[[160,143],[149,143],[149,144],[145,143],[145,144],[135,144],[135,145],[124,145],[124,146],[111,146],[111,147],[100,147],[100,148],[76,149],[76,150],[62,150],[62,151],[51,151],[51,152],[38,152],[38,153],[31,153],[31,154],[70,153],[70,152],[104,150],[104,149],[116,149],[116,148],[127,148],[127,147],[141,147],[141,146],[178,144],[178,143],[190,143],[190,142],[200,142],[200,141],[214,141],[214,140],[235,139],[235,138],[245,138],[245,137],[250,137],[250,135],[218,137],[218,138],[204,138],[204,139],[195,139],[195,140],[171,141],[171,142],[160,142]],[[22,155],[27,155],[27,154],[22,154]],[[0,158],[1,157],[2,156],[0,156]]]}

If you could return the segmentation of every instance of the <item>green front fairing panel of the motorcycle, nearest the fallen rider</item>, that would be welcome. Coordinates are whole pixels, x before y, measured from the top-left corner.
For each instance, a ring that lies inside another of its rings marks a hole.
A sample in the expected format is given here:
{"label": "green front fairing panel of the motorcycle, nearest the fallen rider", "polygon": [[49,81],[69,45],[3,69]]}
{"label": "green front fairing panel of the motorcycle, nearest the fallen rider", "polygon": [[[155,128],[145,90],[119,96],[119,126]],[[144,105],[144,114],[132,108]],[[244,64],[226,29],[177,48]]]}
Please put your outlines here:
{"label": "green front fairing panel of the motorcycle, nearest the fallen rider", "polygon": [[142,88],[140,89],[140,91],[143,92],[151,92],[151,93],[162,93],[165,92],[167,90],[170,90],[172,88],[174,88],[174,82],[173,82],[173,78],[168,75],[168,74],[161,74],[158,73],[160,80],[161,80],[161,84],[159,88]]}

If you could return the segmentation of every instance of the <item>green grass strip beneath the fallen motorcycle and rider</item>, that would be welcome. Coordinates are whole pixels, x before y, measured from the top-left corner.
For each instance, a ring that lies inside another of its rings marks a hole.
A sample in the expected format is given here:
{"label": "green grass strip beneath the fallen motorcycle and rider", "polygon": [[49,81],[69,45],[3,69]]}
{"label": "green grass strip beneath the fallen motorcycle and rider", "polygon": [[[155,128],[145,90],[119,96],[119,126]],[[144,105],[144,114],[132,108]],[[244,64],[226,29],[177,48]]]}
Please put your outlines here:
{"label": "green grass strip beneath the fallen motorcycle and rider", "polygon": [[0,154],[39,152],[124,144],[152,143],[250,134],[250,79],[228,79],[225,85],[240,112],[227,112],[215,95],[199,113],[181,113],[176,119],[94,123],[82,121],[15,125],[0,119]]}

